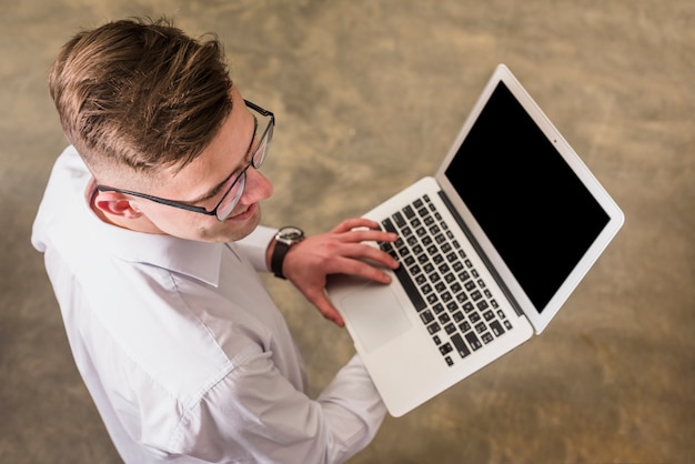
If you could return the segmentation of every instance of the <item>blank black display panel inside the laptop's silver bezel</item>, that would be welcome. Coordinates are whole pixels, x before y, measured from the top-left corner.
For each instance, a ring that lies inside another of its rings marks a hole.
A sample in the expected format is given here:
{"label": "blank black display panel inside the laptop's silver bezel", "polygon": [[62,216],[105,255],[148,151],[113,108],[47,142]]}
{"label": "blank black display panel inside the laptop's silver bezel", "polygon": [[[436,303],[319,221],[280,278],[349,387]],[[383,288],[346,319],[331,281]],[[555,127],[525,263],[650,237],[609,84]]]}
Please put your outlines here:
{"label": "blank black display panel inside the laptop's silver bezel", "polygon": [[538,312],[610,220],[503,82],[445,175]]}

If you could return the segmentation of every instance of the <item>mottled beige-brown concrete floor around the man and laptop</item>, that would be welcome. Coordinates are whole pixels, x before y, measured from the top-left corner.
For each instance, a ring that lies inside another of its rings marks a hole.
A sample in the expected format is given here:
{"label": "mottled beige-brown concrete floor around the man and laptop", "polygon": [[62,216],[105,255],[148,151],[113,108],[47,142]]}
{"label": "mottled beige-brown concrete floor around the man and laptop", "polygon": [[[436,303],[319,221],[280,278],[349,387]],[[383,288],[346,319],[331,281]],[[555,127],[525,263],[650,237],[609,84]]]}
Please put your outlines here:
{"label": "mottled beige-brown concrete floor around the man and laptop", "polygon": [[[352,463],[695,462],[692,0],[2,0],[0,462],[119,462],[29,234],[64,144],[53,56],[81,27],[162,13],[219,32],[275,111],[269,224],[323,231],[431,173],[498,62],[625,211],[542,336],[387,418]],[[349,336],[269,285],[320,389]]]}

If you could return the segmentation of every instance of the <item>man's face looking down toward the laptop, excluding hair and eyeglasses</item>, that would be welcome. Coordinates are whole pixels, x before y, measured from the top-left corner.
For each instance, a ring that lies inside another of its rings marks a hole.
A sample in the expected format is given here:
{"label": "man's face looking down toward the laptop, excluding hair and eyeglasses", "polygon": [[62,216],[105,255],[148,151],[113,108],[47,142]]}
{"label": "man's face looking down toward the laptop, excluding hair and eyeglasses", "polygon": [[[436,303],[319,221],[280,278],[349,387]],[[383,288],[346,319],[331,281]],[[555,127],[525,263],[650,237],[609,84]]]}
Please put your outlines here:
{"label": "man's face looking down toward the laptop, excluding hair and eyeglasses", "polygon": [[[161,182],[148,194],[212,210],[229,189],[228,178],[239,173],[250,161],[261,133],[254,133],[255,120],[236,90],[232,89],[232,111],[210,145],[190,164],[175,172],[164,171]],[[259,131],[262,131],[259,121]],[[225,182],[226,181],[226,182]],[[145,199],[128,196],[129,214],[108,219],[118,225],[150,233],[162,233],[203,242],[226,242],[249,235],[261,221],[260,202],[272,194],[272,185],[254,168],[246,170],[246,184],[239,203],[228,219],[171,208]],[[107,193],[108,194],[108,193]],[[104,193],[97,195],[99,205]],[[103,210],[103,208],[100,208]]]}

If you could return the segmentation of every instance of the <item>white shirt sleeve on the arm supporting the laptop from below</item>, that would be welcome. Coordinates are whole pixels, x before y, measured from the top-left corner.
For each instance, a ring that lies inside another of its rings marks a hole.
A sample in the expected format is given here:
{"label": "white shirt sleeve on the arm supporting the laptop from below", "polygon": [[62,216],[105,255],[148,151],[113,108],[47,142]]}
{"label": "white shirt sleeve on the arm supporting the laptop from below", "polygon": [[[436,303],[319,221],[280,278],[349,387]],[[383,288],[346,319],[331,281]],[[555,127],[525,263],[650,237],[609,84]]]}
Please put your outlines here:
{"label": "white shirt sleeve on the arm supporting the laptop from below", "polygon": [[185,421],[178,447],[209,462],[342,463],[373,438],[385,406],[355,355],[316,401],[259,351],[215,385]]}

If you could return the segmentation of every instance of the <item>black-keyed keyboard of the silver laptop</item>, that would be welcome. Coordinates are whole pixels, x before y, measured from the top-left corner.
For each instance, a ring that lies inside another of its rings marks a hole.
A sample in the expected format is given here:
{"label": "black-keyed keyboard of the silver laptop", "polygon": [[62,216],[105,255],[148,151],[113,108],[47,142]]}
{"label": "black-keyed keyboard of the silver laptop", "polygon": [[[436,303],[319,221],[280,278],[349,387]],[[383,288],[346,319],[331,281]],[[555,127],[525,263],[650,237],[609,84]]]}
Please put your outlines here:
{"label": "black-keyed keyboard of the silver laptop", "polygon": [[429,195],[382,221],[382,228],[399,234],[380,246],[401,262],[395,275],[447,365],[512,330]]}

